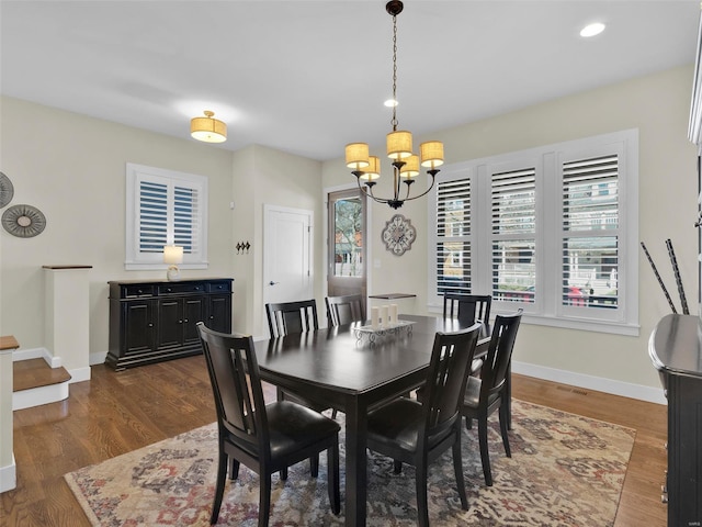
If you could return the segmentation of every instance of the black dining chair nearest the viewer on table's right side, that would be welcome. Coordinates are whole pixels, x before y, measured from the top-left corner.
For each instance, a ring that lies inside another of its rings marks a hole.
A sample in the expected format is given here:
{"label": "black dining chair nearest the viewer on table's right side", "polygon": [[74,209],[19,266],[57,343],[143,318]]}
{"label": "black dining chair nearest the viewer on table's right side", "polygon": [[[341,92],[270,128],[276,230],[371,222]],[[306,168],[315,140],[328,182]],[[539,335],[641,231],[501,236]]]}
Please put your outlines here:
{"label": "black dining chair nearest the viewer on table's right side", "polygon": [[399,397],[367,416],[367,447],[393,458],[395,473],[403,463],[416,468],[417,524],[429,526],[429,464],[449,448],[461,505],[468,508],[461,459],[461,404],[480,325],[456,333],[437,333],[426,381],[426,400]]}

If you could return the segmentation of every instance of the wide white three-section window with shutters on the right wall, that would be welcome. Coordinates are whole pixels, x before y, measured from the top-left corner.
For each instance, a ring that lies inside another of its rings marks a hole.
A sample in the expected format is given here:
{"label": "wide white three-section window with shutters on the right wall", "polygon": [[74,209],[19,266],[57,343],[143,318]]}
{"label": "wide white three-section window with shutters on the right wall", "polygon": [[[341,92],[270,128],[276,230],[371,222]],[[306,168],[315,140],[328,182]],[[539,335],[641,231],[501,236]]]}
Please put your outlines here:
{"label": "wide white three-section window with shutters on the right wall", "polygon": [[430,304],[489,293],[534,324],[637,335],[637,158],[625,131],[444,167]]}

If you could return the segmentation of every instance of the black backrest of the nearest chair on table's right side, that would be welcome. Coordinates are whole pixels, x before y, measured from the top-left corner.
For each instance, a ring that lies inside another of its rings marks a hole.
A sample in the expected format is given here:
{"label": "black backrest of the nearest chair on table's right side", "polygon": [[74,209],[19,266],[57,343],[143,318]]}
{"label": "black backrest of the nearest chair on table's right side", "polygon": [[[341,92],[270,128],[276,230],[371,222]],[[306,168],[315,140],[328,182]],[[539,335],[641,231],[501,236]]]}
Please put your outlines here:
{"label": "black backrest of the nearest chair on table's right side", "polygon": [[420,440],[437,437],[460,418],[480,324],[455,333],[437,333],[423,399],[426,424]]}

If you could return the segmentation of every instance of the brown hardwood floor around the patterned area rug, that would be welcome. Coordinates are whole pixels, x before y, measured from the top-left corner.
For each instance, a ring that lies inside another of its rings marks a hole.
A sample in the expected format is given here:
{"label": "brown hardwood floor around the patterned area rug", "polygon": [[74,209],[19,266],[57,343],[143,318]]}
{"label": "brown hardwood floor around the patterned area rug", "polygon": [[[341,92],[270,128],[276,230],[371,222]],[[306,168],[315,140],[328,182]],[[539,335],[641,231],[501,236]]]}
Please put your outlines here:
{"label": "brown hardwood floor around the patterned area rug", "polygon": [[[517,399],[635,428],[615,527],[666,525],[665,406],[521,375],[512,385]],[[274,396],[272,389],[267,393]],[[68,400],[14,413],[18,487],[0,495],[0,525],[88,526],[66,472],[215,418],[202,356],[121,372],[94,366],[92,380],[71,384]]]}

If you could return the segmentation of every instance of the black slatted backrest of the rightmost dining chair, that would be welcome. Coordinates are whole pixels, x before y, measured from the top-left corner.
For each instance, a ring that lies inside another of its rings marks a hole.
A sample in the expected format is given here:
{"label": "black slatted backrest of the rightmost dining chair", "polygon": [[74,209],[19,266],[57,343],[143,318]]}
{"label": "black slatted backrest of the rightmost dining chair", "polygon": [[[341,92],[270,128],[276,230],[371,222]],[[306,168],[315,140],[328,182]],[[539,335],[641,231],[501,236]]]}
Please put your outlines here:
{"label": "black slatted backrest of the rightmost dining chair", "polygon": [[492,325],[490,344],[483,362],[480,400],[489,397],[505,386],[512,350],[517,339],[517,330],[522,319],[522,311],[511,315],[497,315]]}

